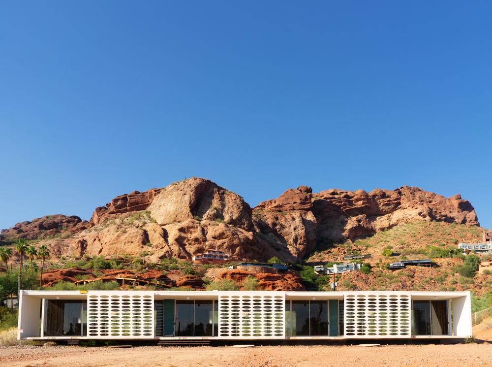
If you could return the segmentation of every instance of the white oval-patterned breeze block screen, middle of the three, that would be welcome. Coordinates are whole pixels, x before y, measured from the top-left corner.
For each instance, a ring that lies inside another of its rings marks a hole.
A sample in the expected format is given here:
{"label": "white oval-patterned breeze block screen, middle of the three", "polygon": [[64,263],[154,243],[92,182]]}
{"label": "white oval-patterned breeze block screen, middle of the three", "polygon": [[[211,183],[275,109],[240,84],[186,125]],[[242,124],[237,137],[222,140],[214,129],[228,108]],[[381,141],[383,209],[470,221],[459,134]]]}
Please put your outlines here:
{"label": "white oval-patterned breeze block screen, middle of the three", "polygon": [[285,337],[285,294],[262,293],[219,295],[220,338]]}

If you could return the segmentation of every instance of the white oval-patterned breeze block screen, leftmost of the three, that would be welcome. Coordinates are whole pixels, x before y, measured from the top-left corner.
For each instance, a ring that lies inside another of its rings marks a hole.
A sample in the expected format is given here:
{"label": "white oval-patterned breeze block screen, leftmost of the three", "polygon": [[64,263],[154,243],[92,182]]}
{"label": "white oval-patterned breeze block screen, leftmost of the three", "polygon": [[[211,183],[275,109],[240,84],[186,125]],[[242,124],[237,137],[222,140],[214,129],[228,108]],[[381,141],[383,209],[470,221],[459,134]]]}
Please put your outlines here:
{"label": "white oval-patterned breeze block screen, leftmost of the three", "polygon": [[88,338],[154,337],[152,292],[89,291],[87,296]]}

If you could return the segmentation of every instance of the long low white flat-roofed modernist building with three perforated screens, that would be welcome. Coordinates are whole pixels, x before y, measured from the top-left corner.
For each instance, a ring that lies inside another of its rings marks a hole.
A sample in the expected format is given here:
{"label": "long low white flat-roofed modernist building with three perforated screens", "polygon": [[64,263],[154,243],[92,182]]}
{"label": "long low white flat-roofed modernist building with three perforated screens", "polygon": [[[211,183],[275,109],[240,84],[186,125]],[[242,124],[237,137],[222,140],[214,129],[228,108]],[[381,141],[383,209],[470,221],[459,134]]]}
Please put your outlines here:
{"label": "long low white flat-roofed modernist building with three perforated screens", "polygon": [[444,339],[471,334],[470,292],[21,291],[19,307],[22,339]]}

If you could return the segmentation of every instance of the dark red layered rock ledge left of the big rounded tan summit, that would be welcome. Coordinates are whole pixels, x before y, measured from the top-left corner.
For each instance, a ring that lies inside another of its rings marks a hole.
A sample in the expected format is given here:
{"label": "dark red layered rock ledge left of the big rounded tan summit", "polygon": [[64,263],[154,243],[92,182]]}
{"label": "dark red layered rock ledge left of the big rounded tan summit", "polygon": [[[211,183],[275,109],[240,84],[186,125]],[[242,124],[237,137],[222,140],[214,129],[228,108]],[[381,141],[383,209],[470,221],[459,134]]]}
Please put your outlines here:
{"label": "dark red layered rock ledge left of the big rounded tan summit", "polygon": [[130,194],[120,195],[107,203],[106,206],[95,208],[89,223],[91,226],[95,226],[106,219],[118,218],[124,213],[146,210],[160,191],[161,189],[150,189],[143,193],[134,191]]}

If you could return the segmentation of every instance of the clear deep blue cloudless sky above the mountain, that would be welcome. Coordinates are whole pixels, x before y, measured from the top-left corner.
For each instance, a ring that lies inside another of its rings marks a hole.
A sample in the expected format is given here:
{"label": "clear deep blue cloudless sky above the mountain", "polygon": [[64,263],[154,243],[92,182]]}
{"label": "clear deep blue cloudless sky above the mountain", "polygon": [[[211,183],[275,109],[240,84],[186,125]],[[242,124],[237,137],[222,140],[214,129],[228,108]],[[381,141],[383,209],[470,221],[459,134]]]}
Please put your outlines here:
{"label": "clear deep blue cloudless sky above the mountain", "polygon": [[1,1],[0,228],[205,177],[461,194],[492,228],[491,1]]}

